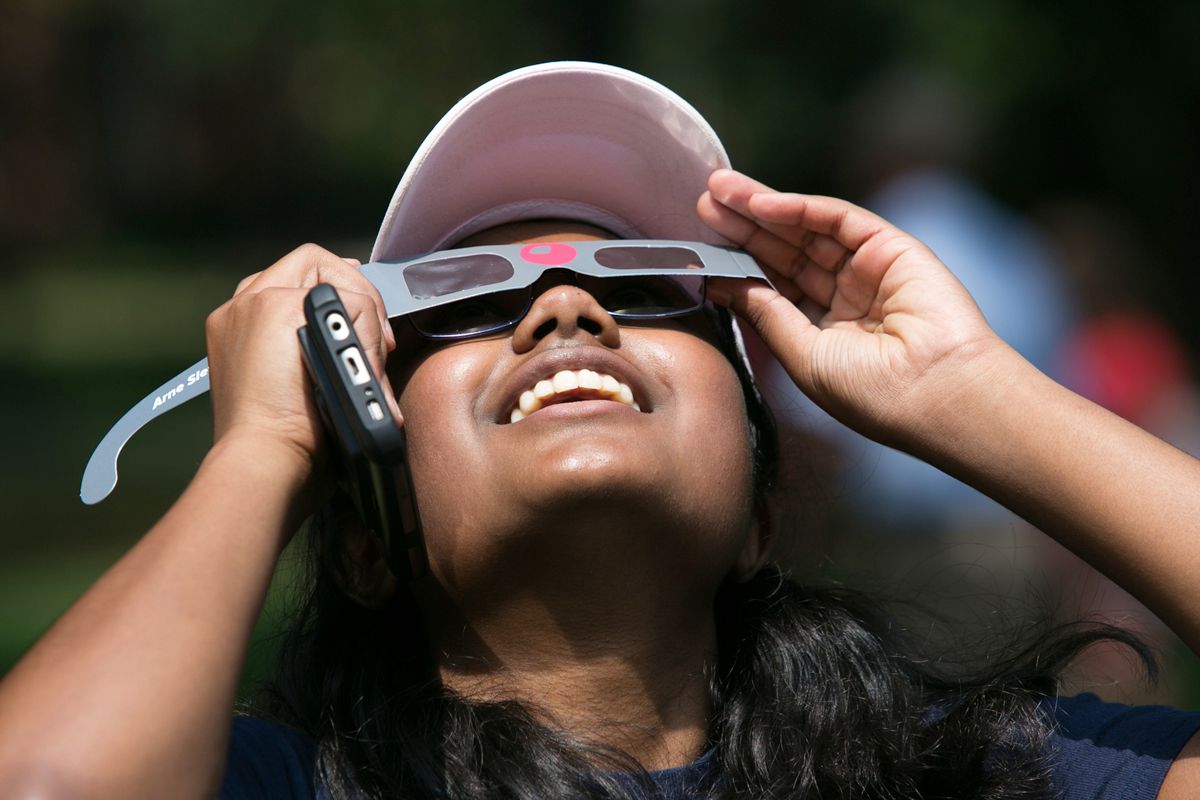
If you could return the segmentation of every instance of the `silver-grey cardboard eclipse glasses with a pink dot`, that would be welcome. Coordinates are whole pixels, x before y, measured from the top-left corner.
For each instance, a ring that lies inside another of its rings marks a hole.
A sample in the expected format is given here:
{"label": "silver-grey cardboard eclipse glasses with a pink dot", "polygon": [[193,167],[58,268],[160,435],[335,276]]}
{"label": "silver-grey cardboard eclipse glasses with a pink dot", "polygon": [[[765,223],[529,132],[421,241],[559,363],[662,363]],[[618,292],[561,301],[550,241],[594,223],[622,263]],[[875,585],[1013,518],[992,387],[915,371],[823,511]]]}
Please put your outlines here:
{"label": "silver-grey cardboard eclipse glasses with a pink dot", "polygon": [[[515,326],[533,303],[534,284],[550,270],[569,271],[614,319],[631,321],[697,311],[709,277],[769,283],[748,253],[672,240],[463,247],[361,266],[383,296],[388,318],[408,317],[416,332],[432,341]],[[88,461],[80,499],[92,505],[108,497],[116,486],[116,459],[133,434],[208,389],[209,362],[202,359],[126,411]]]}

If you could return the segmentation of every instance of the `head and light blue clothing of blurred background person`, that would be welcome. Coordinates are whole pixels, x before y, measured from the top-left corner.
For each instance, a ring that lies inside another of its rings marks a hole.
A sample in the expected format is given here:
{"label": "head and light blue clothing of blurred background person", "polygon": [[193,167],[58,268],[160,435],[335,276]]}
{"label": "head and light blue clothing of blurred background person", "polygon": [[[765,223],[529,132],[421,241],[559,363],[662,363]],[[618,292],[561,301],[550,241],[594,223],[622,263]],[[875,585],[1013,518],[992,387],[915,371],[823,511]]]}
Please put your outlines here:
{"label": "head and light blue clothing of blurred background person", "polygon": [[[851,197],[926,242],[992,329],[1043,372],[1075,314],[1037,229],[973,178],[986,132],[944,74],[893,68],[850,100],[839,155]],[[1012,513],[944,473],[862,437],[841,437],[852,524],[883,534],[1006,528]]]}

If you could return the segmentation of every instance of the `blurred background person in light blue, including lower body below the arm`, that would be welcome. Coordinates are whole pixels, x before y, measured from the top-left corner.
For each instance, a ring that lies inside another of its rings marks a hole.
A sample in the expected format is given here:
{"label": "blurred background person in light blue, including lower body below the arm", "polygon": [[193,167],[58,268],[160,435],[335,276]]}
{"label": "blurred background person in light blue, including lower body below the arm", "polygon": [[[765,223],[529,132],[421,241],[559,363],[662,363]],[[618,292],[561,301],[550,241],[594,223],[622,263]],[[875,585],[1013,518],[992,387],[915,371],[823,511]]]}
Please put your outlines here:
{"label": "blurred background person in light blue, including lower body below the arm", "polygon": [[[1036,227],[974,178],[988,132],[971,94],[944,73],[894,66],[851,92],[836,128],[838,191],[928,242],[992,329],[1054,377],[1075,314],[1072,296]],[[902,564],[918,595],[952,594],[962,619],[986,621],[1025,595],[1022,578],[1036,565],[1027,563],[1030,534],[1016,516],[936,468],[832,423],[804,398],[776,403],[793,410],[790,428],[832,449],[822,473],[829,539],[820,547],[835,567]]]}

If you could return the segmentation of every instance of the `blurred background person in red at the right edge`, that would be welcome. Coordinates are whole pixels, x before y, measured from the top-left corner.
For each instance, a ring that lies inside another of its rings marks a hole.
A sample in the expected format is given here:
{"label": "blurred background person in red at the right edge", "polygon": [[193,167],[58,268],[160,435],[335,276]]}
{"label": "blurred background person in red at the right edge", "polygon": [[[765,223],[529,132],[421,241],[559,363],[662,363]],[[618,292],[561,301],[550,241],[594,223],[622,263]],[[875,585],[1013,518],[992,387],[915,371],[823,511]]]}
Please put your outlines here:
{"label": "blurred background person in red at the right edge", "polygon": [[[1164,441],[1200,453],[1200,386],[1174,326],[1158,307],[1151,248],[1128,217],[1084,197],[1051,200],[1037,218],[1063,267],[1079,315],[1055,354],[1061,380]],[[1064,615],[1091,613],[1138,631],[1163,655],[1166,669],[1156,691],[1139,686],[1138,669],[1104,645],[1078,668],[1094,691],[1134,702],[1186,697],[1182,644],[1128,593],[1049,537],[1038,537],[1038,560],[1070,599]]]}

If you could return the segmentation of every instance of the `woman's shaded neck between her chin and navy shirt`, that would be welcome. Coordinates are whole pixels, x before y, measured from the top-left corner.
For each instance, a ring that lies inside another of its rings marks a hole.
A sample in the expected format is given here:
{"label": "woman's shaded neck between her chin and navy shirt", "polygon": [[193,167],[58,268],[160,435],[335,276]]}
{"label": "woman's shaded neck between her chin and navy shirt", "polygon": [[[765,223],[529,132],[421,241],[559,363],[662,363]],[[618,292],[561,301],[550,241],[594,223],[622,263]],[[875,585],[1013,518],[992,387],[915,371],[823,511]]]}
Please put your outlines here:
{"label": "woman's shaded neck between her chin and navy shirt", "polygon": [[641,572],[524,571],[469,603],[424,587],[443,682],[473,699],[521,700],[546,724],[647,770],[691,763],[712,710],[712,597]]}

